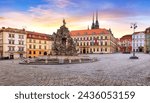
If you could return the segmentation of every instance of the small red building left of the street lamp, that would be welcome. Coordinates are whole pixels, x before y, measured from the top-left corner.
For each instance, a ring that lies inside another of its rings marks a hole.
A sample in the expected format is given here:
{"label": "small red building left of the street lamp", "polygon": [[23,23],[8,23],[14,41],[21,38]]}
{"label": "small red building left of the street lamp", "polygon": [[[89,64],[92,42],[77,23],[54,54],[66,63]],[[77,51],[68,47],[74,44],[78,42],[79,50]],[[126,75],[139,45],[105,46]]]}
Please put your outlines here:
{"label": "small red building left of the street lamp", "polygon": [[124,35],[120,38],[120,51],[122,53],[132,52],[132,35]]}

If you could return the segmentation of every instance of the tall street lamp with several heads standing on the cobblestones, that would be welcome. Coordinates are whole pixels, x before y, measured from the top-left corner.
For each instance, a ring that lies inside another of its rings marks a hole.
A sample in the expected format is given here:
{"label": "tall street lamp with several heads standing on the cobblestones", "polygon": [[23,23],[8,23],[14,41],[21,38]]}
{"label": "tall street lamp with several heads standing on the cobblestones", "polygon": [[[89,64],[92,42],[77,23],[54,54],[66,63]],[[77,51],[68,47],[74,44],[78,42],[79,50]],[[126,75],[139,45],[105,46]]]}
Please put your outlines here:
{"label": "tall street lamp with several heads standing on the cobblestones", "polygon": [[135,29],[137,28],[137,24],[136,23],[132,23],[131,24],[131,29],[133,29],[133,34],[132,34],[132,42],[133,42],[133,56],[130,57],[130,59],[138,59],[137,56],[135,56]]}

